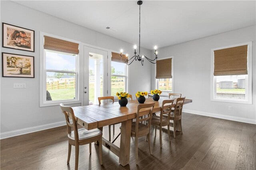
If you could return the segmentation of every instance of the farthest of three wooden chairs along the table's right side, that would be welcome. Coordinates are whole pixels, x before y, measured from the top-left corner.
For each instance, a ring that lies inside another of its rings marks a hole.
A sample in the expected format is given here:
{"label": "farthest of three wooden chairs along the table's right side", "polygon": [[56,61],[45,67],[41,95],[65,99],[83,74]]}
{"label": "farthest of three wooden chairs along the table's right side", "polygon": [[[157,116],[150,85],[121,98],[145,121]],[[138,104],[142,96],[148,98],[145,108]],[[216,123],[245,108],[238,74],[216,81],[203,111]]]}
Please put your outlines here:
{"label": "farthest of three wooden chairs along the table's right side", "polygon": [[[180,123],[180,132],[182,134],[182,125],[181,125],[181,115],[182,115],[182,108],[184,105],[184,101],[185,101],[186,97],[182,97],[182,98],[177,98],[176,99],[176,104],[174,107],[174,112],[171,113],[170,115],[170,120],[173,121],[173,135],[174,138],[176,138],[176,121],[179,121]],[[163,115],[164,118],[168,119],[167,115]]]}

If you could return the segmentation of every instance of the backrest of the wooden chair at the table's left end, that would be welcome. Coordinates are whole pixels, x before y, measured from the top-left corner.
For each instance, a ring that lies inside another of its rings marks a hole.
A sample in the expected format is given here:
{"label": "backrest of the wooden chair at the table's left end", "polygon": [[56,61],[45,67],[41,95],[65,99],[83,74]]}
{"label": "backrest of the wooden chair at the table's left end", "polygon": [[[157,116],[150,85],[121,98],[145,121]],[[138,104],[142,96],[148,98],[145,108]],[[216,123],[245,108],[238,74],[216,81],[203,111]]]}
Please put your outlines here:
{"label": "backrest of the wooden chair at the table's left end", "polygon": [[[64,106],[62,103],[60,103],[60,108],[62,110],[62,113],[64,113],[68,128],[68,134],[71,133],[71,128],[74,130],[75,140],[78,141],[78,130],[77,130],[77,124],[76,124],[76,117],[74,115],[74,111],[71,107]],[[70,123],[70,117],[72,119],[72,123]]]}

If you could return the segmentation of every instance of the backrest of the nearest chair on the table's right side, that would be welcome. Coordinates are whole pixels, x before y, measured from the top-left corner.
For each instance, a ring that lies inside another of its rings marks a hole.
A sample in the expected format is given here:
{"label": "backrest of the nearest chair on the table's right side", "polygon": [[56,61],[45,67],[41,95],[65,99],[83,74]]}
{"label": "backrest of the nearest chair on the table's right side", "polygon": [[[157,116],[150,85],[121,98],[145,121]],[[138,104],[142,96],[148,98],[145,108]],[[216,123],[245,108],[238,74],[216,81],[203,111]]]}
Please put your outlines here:
{"label": "backrest of the nearest chair on the table's right side", "polygon": [[[148,104],[138,104],[135,124],[136,135],[138,134],[139,122],[148,121],[148,129],[150,128],[154,106],[155,102]],[[144,115],[147,115],[147,117],[143,118]]]}

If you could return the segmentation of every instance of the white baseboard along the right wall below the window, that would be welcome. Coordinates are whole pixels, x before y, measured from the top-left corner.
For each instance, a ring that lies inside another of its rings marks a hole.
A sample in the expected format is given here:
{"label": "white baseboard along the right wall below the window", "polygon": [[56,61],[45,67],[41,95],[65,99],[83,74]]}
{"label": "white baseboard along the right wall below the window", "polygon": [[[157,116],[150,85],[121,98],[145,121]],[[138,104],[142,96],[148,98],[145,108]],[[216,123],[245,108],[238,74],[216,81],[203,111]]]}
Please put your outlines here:
{"label": "white baseboard along the right wall below the window", "polygon": [[234,116],[227,116],[227,115],[219,115],[215,113],[208,113],[208,112],[201,112],[201,111],[193,111],[188,109],[182,109],[182,112],[184,113],[191,113],[194,115],[202,115],[202,116],[208,116],[208,117],[216,117],[220,119],[226,119],[230,121],[237,121],[237,122],[244,122],[244,123],[250,123],[250,124],[256,124],[256,120],[253,119],[247,119],[242,117],[234,117]]}

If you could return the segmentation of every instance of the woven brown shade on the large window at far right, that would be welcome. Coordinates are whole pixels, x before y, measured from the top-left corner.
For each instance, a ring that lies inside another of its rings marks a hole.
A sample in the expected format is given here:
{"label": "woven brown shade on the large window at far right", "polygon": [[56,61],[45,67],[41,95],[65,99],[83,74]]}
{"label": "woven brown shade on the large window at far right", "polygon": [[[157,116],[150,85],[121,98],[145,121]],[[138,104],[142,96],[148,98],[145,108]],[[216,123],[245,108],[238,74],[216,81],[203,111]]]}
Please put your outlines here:
{"label": "woven brown shade on the large window at far right", "polygon": [[214,75],[248,74],[248,45],[214,51]]}

